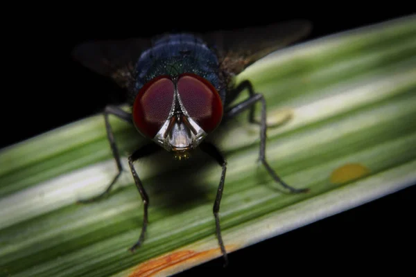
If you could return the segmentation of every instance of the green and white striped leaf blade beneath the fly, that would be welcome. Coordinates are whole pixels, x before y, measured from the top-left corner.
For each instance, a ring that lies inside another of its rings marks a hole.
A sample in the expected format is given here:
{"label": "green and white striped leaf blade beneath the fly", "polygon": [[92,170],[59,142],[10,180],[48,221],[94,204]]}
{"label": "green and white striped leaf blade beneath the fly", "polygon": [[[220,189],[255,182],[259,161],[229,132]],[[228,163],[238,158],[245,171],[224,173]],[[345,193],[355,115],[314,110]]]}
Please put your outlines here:
{"label": "green and white striped leaf blade beneath the fly", "polygon": [[[228,167],[220,208],[228,251],[271,238],[416,183],[416,17],[277,51],[236,78],[267,101],[266,157],[284,193],[257,163],[259,127],[248,114],[213,139]],[[243,95],[238,100],[243,100]],[[257,116],[259,109],[257,109]],[[111,118],[126,156],[144,139]],[[116,174],[103,116],[85,118],[0,152],[0,274],[174,274],[220,256],[212,206],[220,167],[196,152],[136,163],[150,197],[148,232],[135,254],[143,205],[128,170]]]}

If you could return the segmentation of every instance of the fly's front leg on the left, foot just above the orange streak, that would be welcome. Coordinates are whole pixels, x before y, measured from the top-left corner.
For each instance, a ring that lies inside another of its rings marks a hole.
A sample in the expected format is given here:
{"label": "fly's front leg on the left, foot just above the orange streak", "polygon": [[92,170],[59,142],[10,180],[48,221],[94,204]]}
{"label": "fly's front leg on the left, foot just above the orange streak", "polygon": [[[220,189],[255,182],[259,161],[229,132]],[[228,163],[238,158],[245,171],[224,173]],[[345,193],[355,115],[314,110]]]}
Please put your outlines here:
{"label": "fly's front leg on the left, foot just above the orange streak", "polygon": [[150,154],[154,154],[160,149],[161,148],[158,145],[154,143],[150,143],[148,145],[144,145],[142,148],[139,148],[139,150],[136,150],[135,152],[133,152],[133,154],[130,155],[130,157],[128,157],[128,165],[130,166],[133,179],[135,179],[137,190],[139,190],[141,200],[143,201],[143,204],[144,204],[143,226],[141,228],[139,240],[137,240],[137,242],[132,247],[130,247],[130,251],[132,252],[134,252],[137,249],[137,247],[140,247],[140,245],[144,241],[144,235],[146,233],[146,229],[148,225],[148,206],[149,206],[149,197],[146,193],[146,190],[144,190],[143,184],[141,184],[141,180],[139,179],[139,175],[137,175],[137,172],[135,170],[135,166],[133,165],[133,163],[140,158],[149,156]]}

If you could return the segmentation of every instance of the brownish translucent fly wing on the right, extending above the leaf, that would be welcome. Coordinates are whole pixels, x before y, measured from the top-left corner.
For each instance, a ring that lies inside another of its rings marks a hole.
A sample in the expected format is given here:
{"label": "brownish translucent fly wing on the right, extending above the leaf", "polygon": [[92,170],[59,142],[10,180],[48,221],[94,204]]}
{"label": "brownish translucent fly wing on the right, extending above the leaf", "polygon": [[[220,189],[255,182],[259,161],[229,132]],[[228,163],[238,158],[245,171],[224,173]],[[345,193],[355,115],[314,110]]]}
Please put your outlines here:
{"label": "brownish translucent fly wing on the right, extending above the leaf", "polygon": [[311,29],[311,22],[293,20],[261,27],[219,30],[202,37],[216,48],[222,69],[238,74],[261,57],[306,37]]}

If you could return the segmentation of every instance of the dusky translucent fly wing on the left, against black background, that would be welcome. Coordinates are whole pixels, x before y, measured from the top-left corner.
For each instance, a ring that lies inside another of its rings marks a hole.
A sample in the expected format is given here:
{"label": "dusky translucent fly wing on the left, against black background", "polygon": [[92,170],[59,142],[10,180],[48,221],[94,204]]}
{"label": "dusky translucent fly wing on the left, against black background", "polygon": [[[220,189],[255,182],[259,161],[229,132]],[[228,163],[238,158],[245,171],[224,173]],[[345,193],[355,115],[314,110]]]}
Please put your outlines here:
{"label": "dusky translucent fly wing on the left, against black background", "polygon": [[151,40],[144,38],[91,41],[76,46],[72,56],[83,66],[125,88],[132,80],[135,62],[150,46]]}

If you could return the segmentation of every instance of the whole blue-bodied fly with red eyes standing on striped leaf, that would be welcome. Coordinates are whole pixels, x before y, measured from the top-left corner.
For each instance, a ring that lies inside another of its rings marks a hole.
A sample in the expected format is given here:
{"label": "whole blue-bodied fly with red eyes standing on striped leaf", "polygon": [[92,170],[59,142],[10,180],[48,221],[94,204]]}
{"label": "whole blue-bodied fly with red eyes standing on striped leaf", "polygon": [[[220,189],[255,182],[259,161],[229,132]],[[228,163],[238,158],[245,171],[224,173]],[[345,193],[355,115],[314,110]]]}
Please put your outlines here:
{"label": "whole blue-bodied fly with red eyes standing on striped leaf", "polygon": [[[133,166],[138,159],[159,150],[171,152],[179,160],[200,148],[222,168],[214,202],[216,236],[227,264],[220,231],[220,201],[223,196],[227,161],[216,145],[205,141],[226,120],[249,110],[250,123],[260,125],[259,160],[268,173],[291,193],[304,193],[286,184],[266,161],[266,100],[254,90],[249,80],[234,85],[234,76],[247,66],[309,34],[308,21],[288,21],[262,28],[219,30],[205,34],[164,34],[153,39],[131,38],[121,41],[85,42],[73,51],[73,57],[92,71],[112,78],[128,91],[131,113],[114,105],[103,111],[107,138],[119,172],[107,189],[91,199],[107,195],[119,179],[121,166],[119,150],[108,116],[113,115],[135,126],[149,143],[128,157],[128,165],[144,204],[143,226],[135,251],[144,242],[148,226],[149,197]],[[242,91],[246,100],[231,105]],[[254,105],[261,105],[261,120],[254,120]]]}

